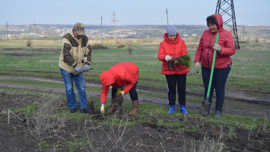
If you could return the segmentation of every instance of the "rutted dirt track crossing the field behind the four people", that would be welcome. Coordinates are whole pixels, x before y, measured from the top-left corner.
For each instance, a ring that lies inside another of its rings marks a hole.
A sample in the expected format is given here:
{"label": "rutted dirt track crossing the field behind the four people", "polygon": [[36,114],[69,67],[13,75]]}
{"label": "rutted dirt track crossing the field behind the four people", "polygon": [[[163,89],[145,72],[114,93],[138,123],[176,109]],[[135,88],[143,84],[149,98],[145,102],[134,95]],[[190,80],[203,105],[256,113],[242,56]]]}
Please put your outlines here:
{"label": "rutted dirt track crossing the field behind the four people", "polygon": [[[5,78],[5,79],[16,79],[16,80],[34,80],[34,81],[43,81],[43,82],[53,82],[53,83],[63,83],[61,79],[51,79],[51,78],[39,78],[39,77],[32,77],[32,76],[14,76],[14,75],[0,75],[0,79]],[[95,86],[95,87],[101,87],[100,82],[95,82],[95,81],[89,81],[87,82],[88,86]],[[44,90],[48,91],[50,89],[53,90],[53,92],[60,92],[60,93],[65,93],[65,89],[63,88],[52,88],[52,87],[43,87],[43,86],[32,86],[32,85],[18,85],[18,84],[5,84],[5,83],[0,83],[0,86],[5,86],[5,87],[15,87],[15,88],[27,88],[30,90]],[[64,84],[63,84],[64,86]],[[137,90],[139,92],[148,92],[148,93],[158,93],[158,94],[166,94],[167,90],[165,89],[153,89],[153,88],[148,88],[148,87],[141,87],[138,86]],[[77,92],[77,90],[75,90]],[[90,96],[94,97],[100,97],[100,92],[95,92],[95,91],[89,91]],[[194,97],[194,96],[203,96],[201,92],[194,92],[191,90],[187,90],[187,98],[189,97]],[[239,115],[239,116],[248,116],[248,117],[259,117],[259,118],[264,118],[265,115],[269,118],[270,117],[270,112],[268,110],[263,110],[263,109],[255,109],[253,110],[252,105],[264,105],[270,107],[270,101],[267,100],[267,97],[262,97],[262,98],[256,98],[252,97],[245,92],[226,92],[225,94],[226,99],[225,100],[233,100],[233,101],[240,101],[240,102],[245,102],[248,103],[247,107],[224,107],[223,108],[223,113],[226,114],[232,114],[232,115]],[[108,98],[111,98],[111,95],[108,94]],[[128,95],[125,96],[126,100],[130,100],[130,97]],[[269,99],[269,98],[268,98]],[[160,105],[167,105],[167,100],[165,99],[159,99],[159,98],[149,98],[149,97],[142,97],[139,96],[140,102],[147,102],[147,103],[154,103],[154,104],[160,104]],[[200,111],[201,110],[201,102],[198,101],[197,103],[187,103],[188,109],[191,110],[196,110]],[[211,112],[214,112],[214,108],[212,108]]]}

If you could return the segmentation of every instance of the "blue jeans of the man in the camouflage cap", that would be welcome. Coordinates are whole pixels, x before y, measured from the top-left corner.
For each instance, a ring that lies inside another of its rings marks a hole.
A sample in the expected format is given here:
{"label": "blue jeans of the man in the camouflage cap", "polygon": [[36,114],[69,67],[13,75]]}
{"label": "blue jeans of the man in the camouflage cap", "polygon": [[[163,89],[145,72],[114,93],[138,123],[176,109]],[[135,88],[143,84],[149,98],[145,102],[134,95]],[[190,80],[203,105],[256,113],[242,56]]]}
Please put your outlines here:
{"label": "blue jeans of the man in the camouflage cap", "polygon": [[82,73],[78,75],[69,74],[69,72],[61,68],[60,68],[60,71],[63,76],[65,87],[66,87],[66,99],[68,101],[69,109],[77,107],[76,97],[73,90],[73,81],[78,90],[78,96],[80,99],[80,106],[81,106],[80,108],[81,109],[87,108],[87,99],[86,99],[86,94],[85,94],[85,85],[84,85],[84,79],[82,77]]}

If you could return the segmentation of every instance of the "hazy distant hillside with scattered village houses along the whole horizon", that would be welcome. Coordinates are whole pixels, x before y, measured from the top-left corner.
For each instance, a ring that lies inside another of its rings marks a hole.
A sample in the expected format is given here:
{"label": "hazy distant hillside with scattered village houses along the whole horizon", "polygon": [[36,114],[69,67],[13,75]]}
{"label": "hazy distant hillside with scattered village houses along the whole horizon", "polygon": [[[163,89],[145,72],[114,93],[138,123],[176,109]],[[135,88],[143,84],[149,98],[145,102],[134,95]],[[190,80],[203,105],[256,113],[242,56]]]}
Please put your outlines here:
{"label": "hazy distant hillside with scattered village houses along the whole horizon", "polygon": [[[33,24],[26,25],[0,25],[0,40],[15,39],[15,40],[61,40],[73,25],[36,25],[36,34]],[[166,32],[166,25],[119,25],[116,26],[116,39],[162,39]],[[239,26],[238,26],[239,27]],[[224,28],[230,31],[228,26]],[[199,41],[204,30],[208,29],[205,25],[177,25],[177,32],[184,40]],[[269,26],[245,27],[245,37],[241,26],[238,28],[239,40],[269,40]],[[86,35],[90,40],[101,40],[100,25],[86,25]],[[113,40],[113,26],[105,25],[102,27],[103,40]]]}

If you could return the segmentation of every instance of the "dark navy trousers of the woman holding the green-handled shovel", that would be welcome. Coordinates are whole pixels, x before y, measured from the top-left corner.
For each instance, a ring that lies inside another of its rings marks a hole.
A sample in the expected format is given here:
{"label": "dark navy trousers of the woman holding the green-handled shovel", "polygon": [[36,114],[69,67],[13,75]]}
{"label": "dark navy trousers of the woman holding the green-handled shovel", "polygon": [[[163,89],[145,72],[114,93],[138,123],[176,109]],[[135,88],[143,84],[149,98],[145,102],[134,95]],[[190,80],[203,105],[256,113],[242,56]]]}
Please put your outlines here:
{"label": "dark navy trousers of the woman holding the green-handled shovel", "polygon": [[[223,69],[214,69],[214,72],[213,72],[213,78],[212,78],[208,101],[212,104],[213,92],[215,88],[216,97],[217,97],[216,109],[218,110],[222,109],[222,106],[224,103],[225,84],[227,81],[228,74],[230,73],[230,70],[231,70],[231,67],[230,65],[228,65],[228,67],[223,68]],[[201,67],[201,74],[204,81],[204,100],[206,99],[206,96],[207,96],[210,73],[211,73],[211,69],[206,69],[203,66]]]}

